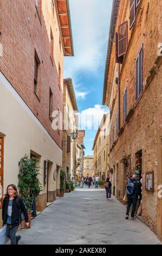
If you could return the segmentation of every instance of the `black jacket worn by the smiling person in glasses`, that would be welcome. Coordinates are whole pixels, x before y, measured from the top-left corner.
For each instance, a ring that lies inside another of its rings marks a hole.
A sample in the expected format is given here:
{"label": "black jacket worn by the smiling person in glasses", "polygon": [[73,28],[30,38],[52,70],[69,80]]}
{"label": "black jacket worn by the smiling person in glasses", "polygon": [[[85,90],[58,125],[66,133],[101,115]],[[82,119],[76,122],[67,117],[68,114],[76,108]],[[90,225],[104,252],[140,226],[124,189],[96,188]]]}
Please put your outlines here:
{"label": "black jacket worn by the smiling person in glasses", "polygon": [[[11,215],[11,227],[16,227],[20,225],[21,223],[21,212],[23,212],[25,217],[25,222],[28,222],[28,212],[25,208],[24,202],[21,198],[19,198],[20,207],[17,204],[16,198],[14,198],[12,202],[12,215]],[[3,200],[3,206],[2,206],[2,220],[3,225],[7,223],[7,212],[8,212],[8,205],[9,205],[9,198],[5,197]]]}

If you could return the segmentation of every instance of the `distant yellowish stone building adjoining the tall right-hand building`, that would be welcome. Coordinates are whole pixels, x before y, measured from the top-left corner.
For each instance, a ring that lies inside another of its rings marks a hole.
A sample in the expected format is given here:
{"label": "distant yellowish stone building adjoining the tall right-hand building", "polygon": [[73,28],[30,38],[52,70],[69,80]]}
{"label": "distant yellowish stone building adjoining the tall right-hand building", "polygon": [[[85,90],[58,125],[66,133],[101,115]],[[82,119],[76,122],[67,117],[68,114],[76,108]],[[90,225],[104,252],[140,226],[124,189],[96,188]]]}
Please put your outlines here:
{"label": "distant yellowish stone building adjoining the tall right-hand building", "polygon": [[109,114],[103,115],[92,150],[94,150],[94,174],[105,180],[109,170]]}

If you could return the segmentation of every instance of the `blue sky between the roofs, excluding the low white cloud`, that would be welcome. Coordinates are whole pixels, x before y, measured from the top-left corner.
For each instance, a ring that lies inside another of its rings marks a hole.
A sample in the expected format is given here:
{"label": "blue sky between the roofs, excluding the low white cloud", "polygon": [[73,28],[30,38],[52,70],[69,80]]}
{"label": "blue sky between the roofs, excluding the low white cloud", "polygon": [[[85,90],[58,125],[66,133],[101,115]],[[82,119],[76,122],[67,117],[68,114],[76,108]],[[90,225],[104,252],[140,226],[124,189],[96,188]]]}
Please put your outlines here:
{"label": "blue sky between the roofs, excluding the low white cloud", "polygon": [[[69,0],[74,57],[64,60],[64,78],[72,78],[77,106],[81,113],[102,115],[102,104],[109,23],[113,0]],[[93,154],[96,129],[86,129],[85,154]]]}

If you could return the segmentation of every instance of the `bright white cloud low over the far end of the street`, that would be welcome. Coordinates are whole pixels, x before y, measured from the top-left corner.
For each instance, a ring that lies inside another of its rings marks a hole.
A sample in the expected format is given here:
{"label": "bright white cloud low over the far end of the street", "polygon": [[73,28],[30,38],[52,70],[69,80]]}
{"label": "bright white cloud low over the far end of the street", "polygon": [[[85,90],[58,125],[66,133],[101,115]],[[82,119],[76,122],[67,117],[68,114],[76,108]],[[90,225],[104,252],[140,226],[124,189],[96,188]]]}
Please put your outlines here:
{"label": "bright white cloud low over the far end of the street", "polygon": [[95,105],[94,108],[87,108],[79,113],[80,130],[98,130],[103,115],[108,113],[108,107]]}

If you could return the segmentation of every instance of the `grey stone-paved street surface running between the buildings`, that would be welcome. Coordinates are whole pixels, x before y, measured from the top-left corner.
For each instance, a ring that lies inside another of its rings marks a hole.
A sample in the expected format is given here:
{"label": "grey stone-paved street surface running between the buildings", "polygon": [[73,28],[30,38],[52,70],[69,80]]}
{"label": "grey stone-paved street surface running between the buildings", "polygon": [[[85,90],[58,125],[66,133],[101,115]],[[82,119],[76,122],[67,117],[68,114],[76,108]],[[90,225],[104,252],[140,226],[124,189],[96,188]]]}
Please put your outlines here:
{"label": "grey stone-paved street surface running between the buildings", "polygon": [[125,220],[125,207],[105,190],[77,188],[65,193],[18,232],[27,245],[156,245],[157,236],[141,221]]}

